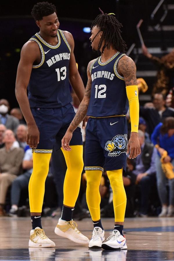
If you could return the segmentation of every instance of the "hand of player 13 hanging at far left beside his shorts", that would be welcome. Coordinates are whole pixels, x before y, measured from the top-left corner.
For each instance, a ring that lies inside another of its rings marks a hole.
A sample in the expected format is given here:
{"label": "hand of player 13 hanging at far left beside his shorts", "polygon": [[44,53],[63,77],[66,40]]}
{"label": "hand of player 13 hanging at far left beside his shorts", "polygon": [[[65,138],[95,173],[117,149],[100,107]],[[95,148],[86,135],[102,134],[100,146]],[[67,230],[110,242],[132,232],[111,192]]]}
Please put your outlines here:
{"label": "hand of player 13 hanging at far left beside his shorts", "polygon": [[36,124],[27,125],[27,139],[26,143],[30,146],[32,149],[37,148],[37,144],[39,143],[39,129]]}

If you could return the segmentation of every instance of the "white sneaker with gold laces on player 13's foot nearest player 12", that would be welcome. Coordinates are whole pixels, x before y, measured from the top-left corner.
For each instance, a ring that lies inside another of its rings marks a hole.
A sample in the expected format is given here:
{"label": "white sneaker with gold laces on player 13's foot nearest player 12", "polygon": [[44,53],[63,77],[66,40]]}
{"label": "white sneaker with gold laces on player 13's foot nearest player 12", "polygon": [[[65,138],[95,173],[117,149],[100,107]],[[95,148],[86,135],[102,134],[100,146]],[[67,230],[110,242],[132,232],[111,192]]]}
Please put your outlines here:
{"label": "white sneaker with gold laces on player 13's foot nearest player 12", "polygon": [[77,223],[75,221],[65,221],[59,218],[59,222],[57,223],[57,226],[55,227],[55,233],[56,235],[59,235],[61,237],[66,237],[78,244],[89,244],[88,237],[84,236],[78,229],[77,229]]}

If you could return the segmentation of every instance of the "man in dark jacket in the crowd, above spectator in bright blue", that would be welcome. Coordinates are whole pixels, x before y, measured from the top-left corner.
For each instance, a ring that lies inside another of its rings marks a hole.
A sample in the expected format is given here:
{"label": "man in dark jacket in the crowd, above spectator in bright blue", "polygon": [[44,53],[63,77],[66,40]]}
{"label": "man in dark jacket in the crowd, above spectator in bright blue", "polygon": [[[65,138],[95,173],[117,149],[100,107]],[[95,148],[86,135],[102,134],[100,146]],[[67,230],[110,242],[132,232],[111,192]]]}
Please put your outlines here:
{"label": "man in dark jacket in the crowd, above spectator in bright blue", "polygon": [[139,107],[139,116],[143,117],[147,123],[147,132],[152,134],[155,126],[163,122],[166,117],[174,117],[174,109],[165,106],[165,96],[162,93],[155,93],[153,96],[153,108]]}

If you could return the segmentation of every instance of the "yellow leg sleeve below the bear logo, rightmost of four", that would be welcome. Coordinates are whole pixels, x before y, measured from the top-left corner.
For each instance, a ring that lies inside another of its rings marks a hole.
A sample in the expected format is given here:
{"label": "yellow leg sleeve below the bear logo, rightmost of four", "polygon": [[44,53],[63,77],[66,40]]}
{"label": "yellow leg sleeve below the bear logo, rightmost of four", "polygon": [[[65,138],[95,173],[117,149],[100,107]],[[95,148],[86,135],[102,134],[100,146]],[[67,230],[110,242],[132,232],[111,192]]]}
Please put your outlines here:
{"label": "yellow leg sleeve below the bear logo, rightmost of four", "polygon": [[110,185],[113,190],[113,206],[115,222],[124,222],[126,210],[126,192],[123,186],[123,169],[107,170]]}

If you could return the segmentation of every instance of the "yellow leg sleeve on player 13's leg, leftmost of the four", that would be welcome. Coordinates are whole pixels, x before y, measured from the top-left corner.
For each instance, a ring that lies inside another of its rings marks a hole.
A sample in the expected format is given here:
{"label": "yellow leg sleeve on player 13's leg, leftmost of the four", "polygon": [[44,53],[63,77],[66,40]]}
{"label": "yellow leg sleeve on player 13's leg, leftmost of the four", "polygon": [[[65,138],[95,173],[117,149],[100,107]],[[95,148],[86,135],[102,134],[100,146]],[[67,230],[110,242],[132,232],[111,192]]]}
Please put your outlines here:
{"label": "yellow leg sleeve on player 13's leg, leftmost of the four", "polygon": [[50,158],[51,153],[33,152],[33,171],[28,185],[30,212],[42,212]]}

